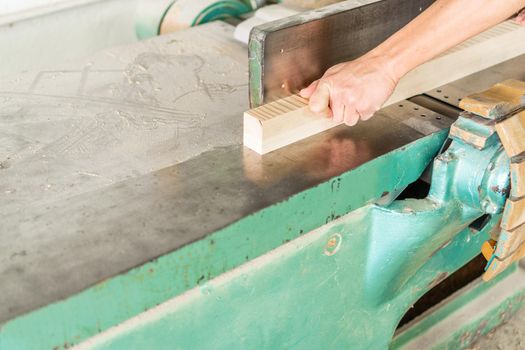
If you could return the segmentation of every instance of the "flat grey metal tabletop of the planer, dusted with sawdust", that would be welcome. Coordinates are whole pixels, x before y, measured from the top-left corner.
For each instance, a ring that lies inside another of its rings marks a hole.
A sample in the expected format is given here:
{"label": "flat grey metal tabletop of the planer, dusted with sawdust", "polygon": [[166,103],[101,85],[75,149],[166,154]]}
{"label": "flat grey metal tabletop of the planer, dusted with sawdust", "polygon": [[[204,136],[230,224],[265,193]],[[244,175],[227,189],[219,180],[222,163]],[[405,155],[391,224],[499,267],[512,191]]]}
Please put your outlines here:
{"label": "flat grey metal tabletop of the planer, dusted with sawdust", "polygon": [[453,120],[406,101],[261,157],[242,147],[247,53],[232,36],[211,23],[0,81],[0,322]]}

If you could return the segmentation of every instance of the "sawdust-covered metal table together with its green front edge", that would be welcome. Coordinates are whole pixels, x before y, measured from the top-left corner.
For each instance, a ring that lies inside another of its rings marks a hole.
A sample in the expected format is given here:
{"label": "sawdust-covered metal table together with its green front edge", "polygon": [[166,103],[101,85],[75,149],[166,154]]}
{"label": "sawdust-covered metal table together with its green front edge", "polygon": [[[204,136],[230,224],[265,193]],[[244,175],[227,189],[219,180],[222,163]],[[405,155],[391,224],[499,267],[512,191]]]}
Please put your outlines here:
{"label": "sawdust-covered metal table together with its green front edge", "polygon": [[[521,56],[262,157],[242,146],[247,51],[232,33],[214,22],[0,82],[4,344],[67,348],[191,288],[207,293],[207,281],[367,204],[365,191],[417,180],[459,98],[525,79]],[[404,158],[411,147],[423,156]],[[372,160],[405,171],[372,173]],[[224,326],[242,339],[239,324]]]}

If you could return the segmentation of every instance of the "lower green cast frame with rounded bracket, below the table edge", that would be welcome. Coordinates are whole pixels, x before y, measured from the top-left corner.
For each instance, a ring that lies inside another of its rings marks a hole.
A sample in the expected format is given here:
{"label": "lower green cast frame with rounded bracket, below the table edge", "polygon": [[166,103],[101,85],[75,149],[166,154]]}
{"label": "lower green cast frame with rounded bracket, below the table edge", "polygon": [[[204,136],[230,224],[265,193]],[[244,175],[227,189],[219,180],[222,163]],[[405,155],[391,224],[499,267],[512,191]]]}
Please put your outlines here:
{"label": "lower green cast frame with rounded bracket, below the table edge", "polygon": [[[508,174],[500,145],[452,142],[434,162],[427,198],[357,209],[91,347],[387,348],[410,306],[479,254],[500,219]],[[468,227],[487,213],[481,232]]]}

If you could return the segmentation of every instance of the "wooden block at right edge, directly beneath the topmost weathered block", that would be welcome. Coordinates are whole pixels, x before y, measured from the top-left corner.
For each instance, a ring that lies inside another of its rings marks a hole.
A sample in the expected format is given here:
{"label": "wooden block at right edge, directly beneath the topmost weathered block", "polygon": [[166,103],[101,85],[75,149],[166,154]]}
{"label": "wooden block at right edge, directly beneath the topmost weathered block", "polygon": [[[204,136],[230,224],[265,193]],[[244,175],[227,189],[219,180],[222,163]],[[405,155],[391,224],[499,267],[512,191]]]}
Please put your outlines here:
{"label": "wooden block at right edge, directly beneath the topmost weathered block", "polygon": [[498,122],[496,131],[509,157],[525,152],[525,111]]}

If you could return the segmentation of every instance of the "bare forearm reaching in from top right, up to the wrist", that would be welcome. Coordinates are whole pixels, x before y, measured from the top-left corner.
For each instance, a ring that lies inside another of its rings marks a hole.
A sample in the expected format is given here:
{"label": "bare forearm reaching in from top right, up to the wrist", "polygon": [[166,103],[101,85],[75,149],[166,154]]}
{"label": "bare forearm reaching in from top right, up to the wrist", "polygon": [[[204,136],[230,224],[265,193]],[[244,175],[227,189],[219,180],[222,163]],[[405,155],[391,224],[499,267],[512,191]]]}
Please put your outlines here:
{"label": "bare forearm reaching in from top right, up to the wrist", "polygon": [[410,70],[525,7],[525,0],[437,0],[368,57],[383,57],[399,79]]}

